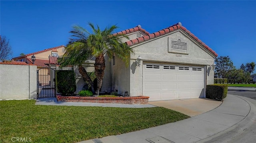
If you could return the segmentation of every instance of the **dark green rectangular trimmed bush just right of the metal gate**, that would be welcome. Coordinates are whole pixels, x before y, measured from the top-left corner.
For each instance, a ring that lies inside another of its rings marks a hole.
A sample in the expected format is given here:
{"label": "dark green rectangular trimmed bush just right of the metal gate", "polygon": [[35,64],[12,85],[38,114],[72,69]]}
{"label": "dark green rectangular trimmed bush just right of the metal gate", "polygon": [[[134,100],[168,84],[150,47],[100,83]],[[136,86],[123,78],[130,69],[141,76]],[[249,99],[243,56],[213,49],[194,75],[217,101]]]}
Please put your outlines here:
{"label": "dark green rectangular trimmed bush just right of the metal gate", "polygon": [[56,71],[57,91],[63,96],[72,96],[76,91],[76,78],[73,70]]}

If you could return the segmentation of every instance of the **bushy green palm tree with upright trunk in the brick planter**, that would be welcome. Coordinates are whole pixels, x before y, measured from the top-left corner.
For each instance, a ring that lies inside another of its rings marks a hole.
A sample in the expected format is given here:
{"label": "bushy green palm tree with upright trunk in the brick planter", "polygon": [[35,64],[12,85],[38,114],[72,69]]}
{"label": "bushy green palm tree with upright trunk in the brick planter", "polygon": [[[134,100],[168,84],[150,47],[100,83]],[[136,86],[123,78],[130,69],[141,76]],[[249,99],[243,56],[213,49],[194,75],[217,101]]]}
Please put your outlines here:
{"label": "bushy green palm tree with upright trunk in the brick planter", "polygon": [[[73,34],[72,38],[70,38],[70,42],[66,47],[66,52],[68,53],[65,53],[64,56],[66,55],[66,57],[72,57],[74,63],[76,64],[78,62],[84,63],[83,61],[85,61],[90,54],[91,56],[95,57],[94,68],[97,79],[97,89],[95,93],[96,95],[99,95],[104,70],[106,68],[104,56],[107,55],[109,60],[111,60],[115,54],[115,56],[122,59],[126,66],[128,66],[130,54],[133,54],[134,51],[132,48],[127,46],[127,44],[122,43],[120,39],[121,37],[128,39],[127,36],[122,34],[112,35],[114,30],[118,28],[116,25],[106,27],[103,31],[100,30],[98,25],[97,28],[95,28],[92,23],[88,23],[88,25],[92,29],[92,34],[81,26],[73,27],[73,30],[70,32]],[[82,66],[80,65],[79,67]],[[86,70],[84,68],[79,68],[80,73],[83,71],[85,75]],[[83,77],[84,75],[82,74]],[[92,85],[93,83],[91,86]]]}

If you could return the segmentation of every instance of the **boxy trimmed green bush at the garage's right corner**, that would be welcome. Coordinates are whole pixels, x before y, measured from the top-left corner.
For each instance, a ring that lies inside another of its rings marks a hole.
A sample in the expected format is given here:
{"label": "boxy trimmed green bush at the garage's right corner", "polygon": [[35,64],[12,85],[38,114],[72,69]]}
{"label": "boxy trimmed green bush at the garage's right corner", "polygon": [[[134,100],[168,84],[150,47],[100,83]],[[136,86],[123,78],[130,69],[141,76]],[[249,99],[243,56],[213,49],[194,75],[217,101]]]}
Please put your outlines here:
{"label": "boxy trimmed green bush at the garage's right corner", "polygon": [[228,85],[206,85],[206,98],[223,101],[227,97]]}

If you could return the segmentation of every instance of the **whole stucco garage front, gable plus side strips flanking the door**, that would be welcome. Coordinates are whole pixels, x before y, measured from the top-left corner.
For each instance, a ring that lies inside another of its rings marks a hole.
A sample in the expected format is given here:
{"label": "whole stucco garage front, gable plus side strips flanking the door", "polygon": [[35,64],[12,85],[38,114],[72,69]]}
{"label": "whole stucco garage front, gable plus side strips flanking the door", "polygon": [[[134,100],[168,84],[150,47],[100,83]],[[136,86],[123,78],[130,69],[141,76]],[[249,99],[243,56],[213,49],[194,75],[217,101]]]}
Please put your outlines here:
{"label": "whole stucco garage front, gable plus side strips flanking the door", "polygon": [[[178,40],[187,44],[186,52],[171,50],[171,41]],[[130,96],[142,95],[142,66],[135,65],[135,60],[139,55],[143,61],[147,62],[207,66],[206,84],[214,83],[214,71],[208,70],[208,68],[214,63],[215,56],[181,30],[136,44],[132,48],[134,48],[135,54],[131,55],[130,60]]]}

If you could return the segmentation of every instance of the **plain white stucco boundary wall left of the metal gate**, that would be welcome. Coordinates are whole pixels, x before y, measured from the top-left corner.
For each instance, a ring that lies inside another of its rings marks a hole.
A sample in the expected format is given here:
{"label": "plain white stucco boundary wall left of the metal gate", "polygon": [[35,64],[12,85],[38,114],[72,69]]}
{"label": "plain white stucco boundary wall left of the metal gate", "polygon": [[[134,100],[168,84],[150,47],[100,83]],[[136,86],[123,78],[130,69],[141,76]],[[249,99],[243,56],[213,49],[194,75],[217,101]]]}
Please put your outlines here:
{"label": "plain white stucco boundary wall left of the metal gate", "polygon": [[36,99],[36,66],[0,64],[0,99]]}

